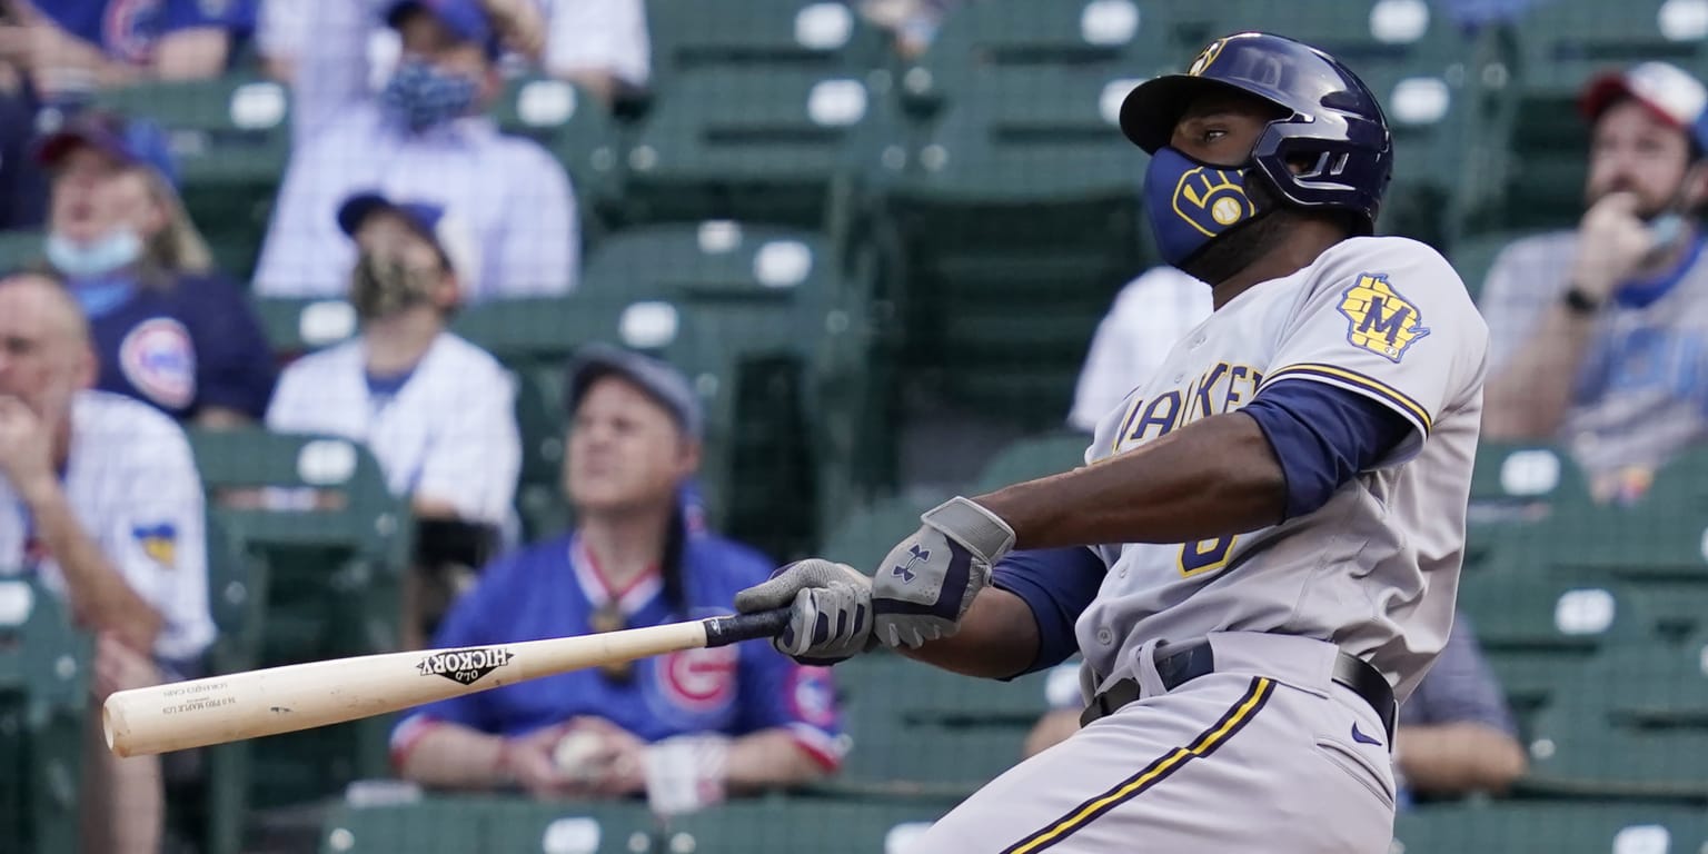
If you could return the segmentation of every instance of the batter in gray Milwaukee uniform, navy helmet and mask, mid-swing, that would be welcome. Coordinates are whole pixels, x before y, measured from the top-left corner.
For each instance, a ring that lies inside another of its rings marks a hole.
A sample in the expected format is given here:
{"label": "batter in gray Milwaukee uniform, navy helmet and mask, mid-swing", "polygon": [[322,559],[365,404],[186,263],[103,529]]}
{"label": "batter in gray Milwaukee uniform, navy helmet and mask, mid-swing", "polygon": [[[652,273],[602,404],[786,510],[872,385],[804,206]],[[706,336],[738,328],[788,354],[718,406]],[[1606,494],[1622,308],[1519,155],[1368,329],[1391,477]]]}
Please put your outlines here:
{"label": "batter in gray Milwaukee uniform, navy helmet and mask, mid-swing", "polygon": [[1390,135],[1332,56],[1221,38],[1120,126],[1161,254],[1216,311],[1083,468],[927,511],[869,579],[804,560],[736,606],[793,606],[777,646],[811,661],[883,644],[1008,678],[1083,652],[1083,729],[919,851],[1383,852],[1395,700],[1452,625],[1488,331],[1438,253],[1372,236]]}

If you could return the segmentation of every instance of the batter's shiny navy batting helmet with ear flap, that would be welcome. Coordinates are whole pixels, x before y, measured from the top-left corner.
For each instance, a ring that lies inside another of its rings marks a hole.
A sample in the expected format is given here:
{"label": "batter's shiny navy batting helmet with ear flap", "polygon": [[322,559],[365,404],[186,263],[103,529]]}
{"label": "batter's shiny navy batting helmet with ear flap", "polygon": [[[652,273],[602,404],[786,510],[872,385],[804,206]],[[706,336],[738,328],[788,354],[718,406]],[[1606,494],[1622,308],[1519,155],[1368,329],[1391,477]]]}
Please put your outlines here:
{"label": "batter's shiny navy batting helmet with ear flap", "polygon": [[[1149,154],[1168,145],[1173,126],[1199,94],[1249,92],[1291,113],[1271,121],[1252,147],[1252,166],[1283,198],[1300,207],[1356,214],[1375,231],[1382,193],[1394,173],[1394,138],[1370,89],[1339,60],[1269,32],[1211,41],[1185,73],[1139,84],[1120,104],[1120,130]],[[1307,162],[1301,173],[1288,161]]]}

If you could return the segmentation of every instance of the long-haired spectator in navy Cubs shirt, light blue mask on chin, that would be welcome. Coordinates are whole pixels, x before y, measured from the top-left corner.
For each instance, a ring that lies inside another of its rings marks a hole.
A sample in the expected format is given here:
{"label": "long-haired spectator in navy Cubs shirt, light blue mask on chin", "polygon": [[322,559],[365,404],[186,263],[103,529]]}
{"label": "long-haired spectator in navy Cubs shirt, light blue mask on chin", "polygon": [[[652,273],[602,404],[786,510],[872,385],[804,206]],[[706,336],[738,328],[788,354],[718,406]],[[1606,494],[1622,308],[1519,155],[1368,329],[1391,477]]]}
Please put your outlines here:
{"label": "long-haired spectator in navy Cubs shirt, light blue mask on chin", "polygon": [[85,111],[46,137],[48,263],[94,328],[97,386],[202,427],[260,420],[273,357],[248,301],[214,272],[149,125]]}

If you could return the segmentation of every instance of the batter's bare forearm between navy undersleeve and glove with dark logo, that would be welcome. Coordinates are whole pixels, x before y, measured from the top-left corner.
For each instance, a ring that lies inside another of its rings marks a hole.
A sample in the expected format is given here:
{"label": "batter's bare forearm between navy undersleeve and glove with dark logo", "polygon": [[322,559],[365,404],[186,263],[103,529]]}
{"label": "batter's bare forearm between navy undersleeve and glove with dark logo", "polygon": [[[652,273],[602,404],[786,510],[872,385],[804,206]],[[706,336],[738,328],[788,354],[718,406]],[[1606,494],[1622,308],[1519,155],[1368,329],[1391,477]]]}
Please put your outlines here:
{"label": "batter's bare forearm between navy undersleeve and glove with dark logo", "polygon": [[975,500],[1015,529],[1016,548],[1185,543],[1274,524],[1286,477],[1257,422],[1235,412]]}

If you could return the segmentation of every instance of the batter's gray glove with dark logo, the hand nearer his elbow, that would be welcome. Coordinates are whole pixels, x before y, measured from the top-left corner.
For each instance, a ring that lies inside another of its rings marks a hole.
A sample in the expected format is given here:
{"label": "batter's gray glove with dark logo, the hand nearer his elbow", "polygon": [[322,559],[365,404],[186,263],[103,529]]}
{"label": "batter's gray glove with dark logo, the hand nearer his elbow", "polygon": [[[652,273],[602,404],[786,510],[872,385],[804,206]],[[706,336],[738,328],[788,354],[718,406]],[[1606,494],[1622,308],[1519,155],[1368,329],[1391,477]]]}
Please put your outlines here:
{"label": "batter's gray glove with dark logo, the hand nearer his elbow", "polygon": [[921,518],[914,536],[890,550],[873,576],[878,640],[917,647],[960,630],[991,565],[1015,547],[1015,529],[994,512],[955,497]]}

